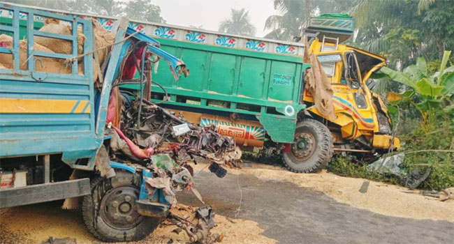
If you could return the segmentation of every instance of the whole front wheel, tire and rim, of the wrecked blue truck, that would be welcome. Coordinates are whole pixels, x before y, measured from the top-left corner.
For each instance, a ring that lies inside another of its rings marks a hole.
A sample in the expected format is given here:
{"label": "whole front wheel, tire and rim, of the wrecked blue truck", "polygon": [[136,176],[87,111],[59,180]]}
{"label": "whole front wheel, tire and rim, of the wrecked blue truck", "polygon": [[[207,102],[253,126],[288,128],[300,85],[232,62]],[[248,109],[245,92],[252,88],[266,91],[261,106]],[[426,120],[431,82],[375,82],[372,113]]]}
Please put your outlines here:
{"label": "whole front wheel, tire and rim, of the wrecked blue truck", "polygon": [[158,227],[161,220],[139,215],[140,175],[117,171],[112,178],[91,181],[91,195],[84,197],[82,216],[96,238],[106,242],[138,241]]}

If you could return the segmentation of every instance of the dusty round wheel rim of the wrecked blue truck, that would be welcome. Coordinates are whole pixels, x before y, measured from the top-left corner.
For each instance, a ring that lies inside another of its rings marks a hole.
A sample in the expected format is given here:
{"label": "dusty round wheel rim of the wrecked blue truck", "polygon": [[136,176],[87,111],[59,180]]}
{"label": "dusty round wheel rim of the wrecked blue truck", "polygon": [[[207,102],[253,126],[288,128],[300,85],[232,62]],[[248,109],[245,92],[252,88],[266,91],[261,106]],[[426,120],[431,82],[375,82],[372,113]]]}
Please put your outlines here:
{"label": "dusty round wheel rim of the wrecked blue truck", "polygon": [[138,189],[123,185],[110,189],[101,200],[100,215],[104,222],[115,229],[132,229],[142,222],[135,208]]}

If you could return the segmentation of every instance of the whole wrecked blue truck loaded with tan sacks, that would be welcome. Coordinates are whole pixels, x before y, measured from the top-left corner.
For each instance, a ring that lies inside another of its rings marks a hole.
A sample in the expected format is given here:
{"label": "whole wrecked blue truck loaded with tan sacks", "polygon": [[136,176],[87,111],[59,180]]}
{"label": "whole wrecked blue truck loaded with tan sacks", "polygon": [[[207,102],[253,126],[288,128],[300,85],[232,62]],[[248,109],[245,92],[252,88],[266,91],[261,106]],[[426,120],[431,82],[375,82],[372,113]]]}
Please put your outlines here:
{"label": "whole wrecked blue truck loaded with tan sacks", "polygon": [[101,241],[140,240],[166,218],[207,241],[212,209],[199,208],[195,224],[178,218],[175,192],[203,201],[189,162],[208,160],[222,177],[237,155],[230,137],[149,101],[153,64],[165,60],[178,79],[189,75],[183,61],[126,18],[106,31],[75,15],[0,9],[11,16],[0,24],[0,208],[65,199]]}

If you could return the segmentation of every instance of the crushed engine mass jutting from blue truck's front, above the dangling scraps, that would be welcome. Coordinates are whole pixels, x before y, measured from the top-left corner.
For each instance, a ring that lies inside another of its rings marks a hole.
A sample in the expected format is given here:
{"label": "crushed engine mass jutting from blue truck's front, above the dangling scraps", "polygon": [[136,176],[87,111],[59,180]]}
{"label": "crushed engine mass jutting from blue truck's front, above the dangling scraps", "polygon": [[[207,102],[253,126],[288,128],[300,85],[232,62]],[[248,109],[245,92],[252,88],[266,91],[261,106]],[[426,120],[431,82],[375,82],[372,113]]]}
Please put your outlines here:
{"label": "crushed engine mass jutting from blue truck's front, above the dangling scraps", "polygon": [[[170,153],[178,165],[203,158],[217,166],[237,166],[235,160],[239,159],[239,152],[234,139],[219,135],[214,125],[204,128],[188,123],[182,116],[176,116],[147,101],[144,102],[148,104],[142,104],[138,119],[139,100],[128,102],[127,96],[130,95],[124,94],[121,128],[124,128],[124,135],[131,142],[136,142],[143,148],[152,148],[156,153]],[[134,153],[125,148],[125,144],[118,146],[117,141],[114,143],[112,149],[115,149],[115,153],[122,151],[129,158],[137,160],[137,155],[131,155]],[[225,169],[219,171],[222,172],[218,176],[225,175]]]}

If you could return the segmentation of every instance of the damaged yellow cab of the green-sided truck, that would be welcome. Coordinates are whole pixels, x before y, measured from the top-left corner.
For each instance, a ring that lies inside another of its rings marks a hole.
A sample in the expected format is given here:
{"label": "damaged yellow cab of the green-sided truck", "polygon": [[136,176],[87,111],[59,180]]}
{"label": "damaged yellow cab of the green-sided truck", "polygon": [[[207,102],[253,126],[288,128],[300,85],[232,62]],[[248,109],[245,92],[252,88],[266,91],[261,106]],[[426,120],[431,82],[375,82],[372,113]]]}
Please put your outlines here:
{"label": "damaged yellow cab of the green-sided truck", "polygon": [[[312,40],[309,48],[316,54],[331,82],[335,119],[329,120],[316,107],[309,108],[309,113],[329,122],[334,150],[374,153],[388,151],[390,147],[399,149],[400,141],[393,138],[388,110],[379,95],[371,91],[376,82],[370,77],[386,65],[386,59],[355,47],[340,45],[339,38],[342,37],[339,36],[332,38],[332,35],[327,37],[318,33],[318,38]],[[303,101],[309,105],[314,103],[307,89]]]}

